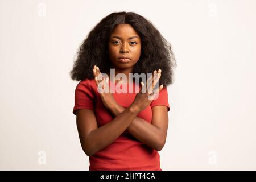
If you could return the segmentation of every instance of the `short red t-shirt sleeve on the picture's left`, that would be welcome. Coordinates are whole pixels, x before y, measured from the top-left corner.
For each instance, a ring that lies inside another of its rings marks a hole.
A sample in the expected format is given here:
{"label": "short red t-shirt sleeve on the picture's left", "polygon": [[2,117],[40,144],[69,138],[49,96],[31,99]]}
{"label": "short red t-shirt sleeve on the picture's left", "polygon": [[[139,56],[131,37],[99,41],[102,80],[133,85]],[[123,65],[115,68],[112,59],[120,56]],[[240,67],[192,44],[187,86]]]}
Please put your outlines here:
{"label": "short red t-shirt sleeve on the picture's left", "polygon": [[77,109],[92,109],[94,110],[94,97],[92,88],[88,82],[79,82],[75,89],[75,106],[73,114],[76,115]]}

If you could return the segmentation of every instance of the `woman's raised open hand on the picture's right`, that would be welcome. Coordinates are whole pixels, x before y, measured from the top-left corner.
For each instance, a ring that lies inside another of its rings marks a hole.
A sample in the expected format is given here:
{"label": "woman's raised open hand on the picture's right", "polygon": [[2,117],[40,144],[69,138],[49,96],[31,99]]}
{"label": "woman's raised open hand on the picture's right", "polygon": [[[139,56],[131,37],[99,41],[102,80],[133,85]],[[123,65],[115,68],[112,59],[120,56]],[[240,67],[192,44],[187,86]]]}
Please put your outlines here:
{"label": "woman's raised open hand on the picture's right", "polygon": [[[161,69],[156,72],[156,70],[152,73],[151,77],[148,78],[147,84],[141,82],[139,93],[136,94],[131,107],[137,113],[144,110],[152,100],[154,100],[156,94],[158,94],[163,89],[163,84],[159,86],[159,88],[155,88],[156,83],[158,82],[159,78],[161,77]],[[153,92],[155,91],[155,92]]]}

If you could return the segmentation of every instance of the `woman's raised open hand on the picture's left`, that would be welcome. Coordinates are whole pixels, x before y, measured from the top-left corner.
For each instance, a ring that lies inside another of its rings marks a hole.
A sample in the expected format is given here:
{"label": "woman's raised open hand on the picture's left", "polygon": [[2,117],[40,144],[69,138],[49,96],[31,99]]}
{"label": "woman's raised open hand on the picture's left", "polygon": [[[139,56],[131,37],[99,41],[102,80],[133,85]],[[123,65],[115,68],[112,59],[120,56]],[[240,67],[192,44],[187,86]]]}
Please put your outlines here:
{"label": "woman's raised open hand on the picture's left", "polygon": [[[102,77],[102,80],[99,80],[99,79],[98,79],[98,78],[100,78],[100,75],[101,75],[101,77]],[[96,82],[97,88],[98,88],[98,85],[99,85],[102,81],[105,82],[104,84],[103,84],[103,82],[101,83],[101,85],[103,85],[103,86],[102,86],[102,89],[104,89],[104,85],[109,85],[108,77],[105,78],[105,77],[101,74],[100,68],[96,67],[96,65],[94,65],[94,67],[93,67],[93,76],[94,76],[94,80],[95,80],[95,82]],[[100,85],[100,86],[101,86],[101,85]],[[108,88],[109,88],[109,87],[108,87]],[[101,96],[101,100],[102,100],[103,104],[105,105],[105,107],[106,107],[107,109],[112,109],[112,107],[115,107],[115,106],[118,105],[117,102],[115,101],[115,99],[114,99],[112,93],[110,93],[110,89],[108,90],[108,93],[105,93],[105,92],[100,93],[100,96]]]}

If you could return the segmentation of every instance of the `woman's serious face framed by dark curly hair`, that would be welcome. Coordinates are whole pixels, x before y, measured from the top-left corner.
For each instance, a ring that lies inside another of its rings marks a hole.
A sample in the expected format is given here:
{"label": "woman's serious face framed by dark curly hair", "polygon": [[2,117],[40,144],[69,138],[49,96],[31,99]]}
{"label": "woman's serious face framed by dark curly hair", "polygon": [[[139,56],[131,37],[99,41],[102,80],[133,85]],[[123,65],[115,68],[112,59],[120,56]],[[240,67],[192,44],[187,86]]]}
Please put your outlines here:
{"label": "woman's serious face framed by dark curly hair", "polygon": [[[130,24],[118,24],[109,38],[109,58],[114,68],[133,68],[141,56],[141,38]],[[122,59],[127,57],[129,59]]]}

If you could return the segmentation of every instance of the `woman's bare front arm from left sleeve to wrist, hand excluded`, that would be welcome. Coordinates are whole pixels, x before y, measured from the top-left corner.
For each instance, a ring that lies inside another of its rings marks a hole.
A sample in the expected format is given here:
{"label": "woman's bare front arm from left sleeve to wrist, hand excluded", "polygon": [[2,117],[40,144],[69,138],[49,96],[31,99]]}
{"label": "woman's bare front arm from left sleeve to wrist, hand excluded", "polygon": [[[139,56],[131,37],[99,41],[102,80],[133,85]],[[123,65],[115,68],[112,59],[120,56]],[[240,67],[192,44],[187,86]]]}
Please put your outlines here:
{"label": "woman's bare front arm from left sleeve to wrist, hand excluded", "polygon": [[84,150],[86,155],[92,156],[106,146],[109,146],[127,129],[138,113],[139,111],[134,109],[133,106],[127,107],[111,122],[98,127],[93,110],[77,110],[77,130],[82,150]]}

